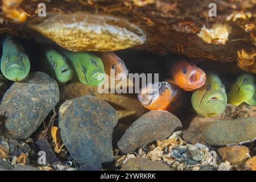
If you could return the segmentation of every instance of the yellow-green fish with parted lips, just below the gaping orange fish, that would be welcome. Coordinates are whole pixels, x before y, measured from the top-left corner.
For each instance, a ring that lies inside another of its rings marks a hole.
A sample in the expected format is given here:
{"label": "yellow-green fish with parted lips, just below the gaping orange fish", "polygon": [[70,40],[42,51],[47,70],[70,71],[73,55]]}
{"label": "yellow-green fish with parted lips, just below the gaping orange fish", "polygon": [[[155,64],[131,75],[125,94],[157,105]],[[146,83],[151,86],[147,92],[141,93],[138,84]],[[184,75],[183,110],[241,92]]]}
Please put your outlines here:
{"label": "yellow-green fish with parted lips, just below the gaping orange fish", "polygon": [[205,85],[193,92],[191,101],[193,108],[200,115],[210,117],[221,114],[227,104],[225,86],[217,75],[210,73]]}

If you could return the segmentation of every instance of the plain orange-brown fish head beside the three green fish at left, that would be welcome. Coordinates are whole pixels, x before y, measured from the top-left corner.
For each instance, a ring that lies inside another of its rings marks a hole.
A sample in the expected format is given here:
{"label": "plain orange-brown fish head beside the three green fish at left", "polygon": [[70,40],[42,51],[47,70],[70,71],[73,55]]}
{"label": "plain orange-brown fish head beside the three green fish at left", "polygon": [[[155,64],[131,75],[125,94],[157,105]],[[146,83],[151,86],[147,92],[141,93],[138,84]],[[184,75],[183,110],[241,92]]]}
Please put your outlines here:
{"label": "plain orange-brown fish head beside the three green fish at left", "polygon": [[110,70],[113,69],[115,71],[115,77],[118,78],[117,75],[119,73],[123,73],[127,77],[128,69],[126,68],[125,63],[114,52],[97,52],[96,55],[100,57],[108,76],[110,76]]}

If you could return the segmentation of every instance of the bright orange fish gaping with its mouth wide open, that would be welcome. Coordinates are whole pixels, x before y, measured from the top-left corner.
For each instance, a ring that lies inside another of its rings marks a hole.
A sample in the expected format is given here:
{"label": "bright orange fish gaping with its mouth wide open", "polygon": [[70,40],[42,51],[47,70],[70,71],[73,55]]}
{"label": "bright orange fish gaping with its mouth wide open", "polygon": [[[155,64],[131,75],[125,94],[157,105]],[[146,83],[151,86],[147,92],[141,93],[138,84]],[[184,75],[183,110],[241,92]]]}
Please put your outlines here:
{"label": "bright orange fish gaping with its mouth wide open", "polygon": [[172,65],[170,76],[166,81],[178,85],[181,89],[193,91],[205,84],[205,72],[187,60],[180,60]]}

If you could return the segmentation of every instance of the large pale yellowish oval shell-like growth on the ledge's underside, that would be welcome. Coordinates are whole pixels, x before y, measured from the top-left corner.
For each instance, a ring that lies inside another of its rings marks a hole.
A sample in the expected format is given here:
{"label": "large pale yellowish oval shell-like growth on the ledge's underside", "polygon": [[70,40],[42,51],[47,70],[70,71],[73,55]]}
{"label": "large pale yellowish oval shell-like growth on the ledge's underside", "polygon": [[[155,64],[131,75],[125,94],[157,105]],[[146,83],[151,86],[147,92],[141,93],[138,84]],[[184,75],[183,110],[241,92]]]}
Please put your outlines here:
{"label": "large pale yellowish oval shell-like growth on the ledge's underside", "polygon": [[46,18],[35,16],[28,24],[70,51],[116,51],[146,40],[141,28],[110,15],[52,13]]}

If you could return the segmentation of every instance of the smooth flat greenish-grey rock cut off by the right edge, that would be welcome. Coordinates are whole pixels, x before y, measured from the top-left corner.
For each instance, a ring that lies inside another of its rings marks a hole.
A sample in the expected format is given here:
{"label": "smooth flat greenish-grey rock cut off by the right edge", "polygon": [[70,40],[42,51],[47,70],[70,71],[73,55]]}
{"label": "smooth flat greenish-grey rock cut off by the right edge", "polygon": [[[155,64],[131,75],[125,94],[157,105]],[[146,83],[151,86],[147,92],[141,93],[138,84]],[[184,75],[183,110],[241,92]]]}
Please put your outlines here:
{"label": "smooth flat greenish-grey rock cut off by the right edge", "polygon": [[209,123],[203,128],[203,137],[212,146],[253,140],[256,138],[256,117]]}

